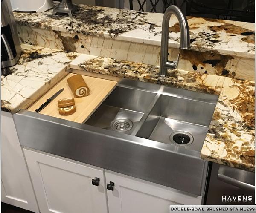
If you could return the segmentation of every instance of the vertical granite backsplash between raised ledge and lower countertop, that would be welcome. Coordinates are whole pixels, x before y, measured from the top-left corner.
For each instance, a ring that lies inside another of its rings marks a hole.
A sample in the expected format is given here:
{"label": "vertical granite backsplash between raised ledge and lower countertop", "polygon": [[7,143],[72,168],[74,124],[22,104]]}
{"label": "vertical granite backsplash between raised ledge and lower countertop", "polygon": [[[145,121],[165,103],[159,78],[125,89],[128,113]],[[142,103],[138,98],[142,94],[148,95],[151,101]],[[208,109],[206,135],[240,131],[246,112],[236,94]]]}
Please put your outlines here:
{"label": "vertical granite backsplash between raised ledge and lower countertop", "polygon": [[[79,52],[89,55],[159,65],[160,46],[59,32],[28,26],[18,26],[22,43]],[[198,52],[169,48],[169,60],[176,60],[177,69],[254,81],[254,59],[220,55],[214,52]]]}

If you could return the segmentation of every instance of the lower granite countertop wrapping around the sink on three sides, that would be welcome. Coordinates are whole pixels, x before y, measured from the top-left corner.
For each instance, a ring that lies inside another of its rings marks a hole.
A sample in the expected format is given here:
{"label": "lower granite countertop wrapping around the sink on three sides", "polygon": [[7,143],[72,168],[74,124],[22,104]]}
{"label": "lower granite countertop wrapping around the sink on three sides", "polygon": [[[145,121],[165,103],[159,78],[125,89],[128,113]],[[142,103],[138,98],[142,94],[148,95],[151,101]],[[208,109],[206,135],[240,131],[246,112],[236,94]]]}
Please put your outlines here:
{"label": "lower granite countertop wrapping around the sink on three sides", "polygon": [[219,99],[201,158],[254,171],[253,81],[182,70],[169,70],[167,77],[159,77],[159,66],[29,45],[22,48],[18,64],[1,76],[2,110],[26,109],[67,75],[69,68],[215,94]]}

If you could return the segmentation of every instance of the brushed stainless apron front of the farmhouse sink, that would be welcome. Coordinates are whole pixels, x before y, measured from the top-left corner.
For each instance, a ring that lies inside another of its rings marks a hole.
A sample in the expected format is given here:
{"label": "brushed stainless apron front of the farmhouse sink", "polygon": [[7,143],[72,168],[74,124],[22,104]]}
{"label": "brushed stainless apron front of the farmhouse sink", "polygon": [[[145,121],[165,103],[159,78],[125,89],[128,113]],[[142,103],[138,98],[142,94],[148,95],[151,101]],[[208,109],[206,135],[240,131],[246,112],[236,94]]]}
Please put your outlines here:
{"label": "brushed stainless apron front of the farmhouse sink", "polygon": [[13,118],[24,147],[204,196],[209,163],[198,152],[26,110]]}

